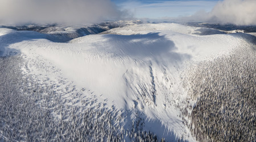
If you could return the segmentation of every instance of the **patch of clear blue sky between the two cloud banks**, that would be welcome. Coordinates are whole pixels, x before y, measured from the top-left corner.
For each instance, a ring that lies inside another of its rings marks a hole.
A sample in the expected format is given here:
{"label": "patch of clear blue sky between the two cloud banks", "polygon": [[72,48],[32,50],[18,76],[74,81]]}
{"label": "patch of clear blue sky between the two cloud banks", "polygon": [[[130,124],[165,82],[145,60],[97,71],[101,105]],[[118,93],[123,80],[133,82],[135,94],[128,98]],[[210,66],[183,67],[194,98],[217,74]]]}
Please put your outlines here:
{"label": "patch of clear blue sky between the two cloud banks", "polygon": [[135,18],[189,16],[197,11],[210,11],[218,0],[112,0]]}

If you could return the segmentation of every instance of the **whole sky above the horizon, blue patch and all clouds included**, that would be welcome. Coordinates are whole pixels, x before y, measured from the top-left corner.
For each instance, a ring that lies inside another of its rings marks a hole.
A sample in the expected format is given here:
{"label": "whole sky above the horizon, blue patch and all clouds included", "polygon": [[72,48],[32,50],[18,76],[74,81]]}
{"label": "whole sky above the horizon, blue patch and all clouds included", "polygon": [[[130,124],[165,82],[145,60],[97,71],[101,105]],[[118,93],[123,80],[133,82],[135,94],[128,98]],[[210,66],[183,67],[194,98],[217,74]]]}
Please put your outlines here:
{"label": "whole sky above the horizon, blue patch and all clouds included", "polygon": [[88,24],[104,20],[256,25],[256,0],[0,0],[0,24]]}

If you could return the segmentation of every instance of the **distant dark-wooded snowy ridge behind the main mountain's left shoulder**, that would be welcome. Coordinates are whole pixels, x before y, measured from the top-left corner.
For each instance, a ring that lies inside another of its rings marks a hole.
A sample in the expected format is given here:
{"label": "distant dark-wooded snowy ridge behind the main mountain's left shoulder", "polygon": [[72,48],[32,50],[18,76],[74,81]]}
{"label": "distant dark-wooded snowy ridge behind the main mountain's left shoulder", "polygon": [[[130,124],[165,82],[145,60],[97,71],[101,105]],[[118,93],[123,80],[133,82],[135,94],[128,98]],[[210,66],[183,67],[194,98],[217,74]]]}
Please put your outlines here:
{"label": "distant dark-wooded snowy ridge behind the main mountain's left shoulder", "polygon": [[98,24],[88,24],[84,25],[45,25],[38,26],[34,24],[30,24],[27,26],[0,26],[0,28],[10,28],[17,31],[36,31],[42,34],[47,34],[47,39],[54,42],[67,42],[72,39],[76,39],[77,37],[99,34],[104,31],[108,31],[112,28],[117,27],[125,27],[134,24],[143,23],[141,20],[120,20],[117,22],[102,22]]}

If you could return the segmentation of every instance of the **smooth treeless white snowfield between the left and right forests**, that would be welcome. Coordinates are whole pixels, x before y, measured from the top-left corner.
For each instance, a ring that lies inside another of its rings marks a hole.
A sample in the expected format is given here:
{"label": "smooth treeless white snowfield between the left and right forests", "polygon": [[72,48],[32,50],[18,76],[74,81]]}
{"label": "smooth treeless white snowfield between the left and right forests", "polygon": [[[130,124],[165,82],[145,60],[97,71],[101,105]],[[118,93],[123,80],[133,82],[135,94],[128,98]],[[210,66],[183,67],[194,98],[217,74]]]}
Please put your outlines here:
{"label": "smooth treeless white snowfield between the left and right forests", "polygon": [[181,74],[195,62],[228,55],[248,43],[244,35],[173,23],[135,24],[53,43],[46,34],[0,28],[0,56],[20,53],[32,73],[61,76],[90,90],[98,102],[127,115],[125,129],[142,118],[144,131],[166,140],[195,141],[180,118],[187,98]]}

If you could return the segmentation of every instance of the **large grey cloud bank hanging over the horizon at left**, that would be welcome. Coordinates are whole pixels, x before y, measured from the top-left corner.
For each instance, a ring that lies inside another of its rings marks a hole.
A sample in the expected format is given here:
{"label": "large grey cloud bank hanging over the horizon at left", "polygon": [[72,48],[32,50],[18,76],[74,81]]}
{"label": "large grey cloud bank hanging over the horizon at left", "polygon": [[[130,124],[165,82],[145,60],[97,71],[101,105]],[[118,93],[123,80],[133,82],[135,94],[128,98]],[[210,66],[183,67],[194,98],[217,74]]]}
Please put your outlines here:
{"label": "large grey cloud bank hanging over the horizon at left", "polygon": [[0,0],[0,24],[84,24],[123,14],[110,0]]}

